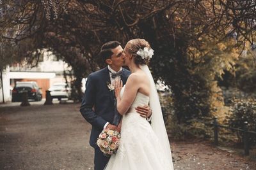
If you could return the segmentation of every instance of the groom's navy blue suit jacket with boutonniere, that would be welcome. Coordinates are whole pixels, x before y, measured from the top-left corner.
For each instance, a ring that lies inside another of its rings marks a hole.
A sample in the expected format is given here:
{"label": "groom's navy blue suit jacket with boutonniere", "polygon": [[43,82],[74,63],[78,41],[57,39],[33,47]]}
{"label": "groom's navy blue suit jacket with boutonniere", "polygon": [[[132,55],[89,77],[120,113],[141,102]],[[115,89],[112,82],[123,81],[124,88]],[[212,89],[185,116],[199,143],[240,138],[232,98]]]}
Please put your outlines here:
{"label": "groom's navy blue suit jacket with boutonniere", "polygon": [[[130,71],[122,68],[121,79],[125,84]],[[87,122],[92,124],[90,145],[97,147],[97,138],[103,130],[104,125],[109,122],[112,124],[114,117],[114,97],[113,91],[108,89],[109,78],[108,67],[91,73],[86,81],[86,90],[81,104],[80,112]],[[93,111],[94,106],[94,111]]]}

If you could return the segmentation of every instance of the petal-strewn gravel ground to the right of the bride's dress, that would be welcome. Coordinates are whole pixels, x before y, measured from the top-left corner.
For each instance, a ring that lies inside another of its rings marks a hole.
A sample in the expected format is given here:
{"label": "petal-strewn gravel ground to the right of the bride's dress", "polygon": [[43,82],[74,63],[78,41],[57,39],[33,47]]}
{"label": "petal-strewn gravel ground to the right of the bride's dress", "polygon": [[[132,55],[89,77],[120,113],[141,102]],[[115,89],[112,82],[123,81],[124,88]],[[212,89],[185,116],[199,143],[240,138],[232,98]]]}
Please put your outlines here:
{"label": "petal-strewn gravel ground to the right of the bride's dress", "polygon": [[172,142],[175,170],[255,170],[256,162],[227,148],[216,148],[209,141],[191,139]]}

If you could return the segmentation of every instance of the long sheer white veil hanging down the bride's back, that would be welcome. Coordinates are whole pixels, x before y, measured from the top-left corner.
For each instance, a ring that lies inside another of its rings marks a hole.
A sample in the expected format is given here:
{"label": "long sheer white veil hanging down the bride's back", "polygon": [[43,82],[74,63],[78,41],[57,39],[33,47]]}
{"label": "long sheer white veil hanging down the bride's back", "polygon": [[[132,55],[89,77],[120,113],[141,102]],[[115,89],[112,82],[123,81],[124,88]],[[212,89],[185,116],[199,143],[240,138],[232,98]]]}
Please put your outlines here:
{"label": "long sheer white veil hanging down the bride's back", "polygon": [[164,119],[163,119],[159,97],[156,90],[156,84],[153,80],[150,70],[148,69],[148,66],[140,65],[140,68],[147,74],[148,79],[150,80],[149,104],[152,110],[151,126],[156,136],[158,137],[159,142],[161,143],[161,146],[163,146],[163,152],[164,152],[163,155],[168,160],[170,160],[170,167],[173,167],[170,143],[169,143],[168,135],[164,125]]}

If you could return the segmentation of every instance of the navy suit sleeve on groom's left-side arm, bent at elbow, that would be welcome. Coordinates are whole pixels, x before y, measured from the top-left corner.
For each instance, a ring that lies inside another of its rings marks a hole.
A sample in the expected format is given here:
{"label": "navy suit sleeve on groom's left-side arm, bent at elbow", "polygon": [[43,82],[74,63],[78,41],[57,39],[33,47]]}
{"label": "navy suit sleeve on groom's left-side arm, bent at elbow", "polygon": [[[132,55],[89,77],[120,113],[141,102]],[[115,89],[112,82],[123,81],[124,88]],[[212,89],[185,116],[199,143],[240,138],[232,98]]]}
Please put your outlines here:
{"label": "navy suit sleeve on groom's left-side arm, bent at elbow", "polygon": [[103,129],[104,125],[107,123],[102,117],[99,117],[93,110],[95,105],[96,96],[96,83],[90,74],[86,81],[86,90],[80,107],[80,112],[87,122],[93,126]]}

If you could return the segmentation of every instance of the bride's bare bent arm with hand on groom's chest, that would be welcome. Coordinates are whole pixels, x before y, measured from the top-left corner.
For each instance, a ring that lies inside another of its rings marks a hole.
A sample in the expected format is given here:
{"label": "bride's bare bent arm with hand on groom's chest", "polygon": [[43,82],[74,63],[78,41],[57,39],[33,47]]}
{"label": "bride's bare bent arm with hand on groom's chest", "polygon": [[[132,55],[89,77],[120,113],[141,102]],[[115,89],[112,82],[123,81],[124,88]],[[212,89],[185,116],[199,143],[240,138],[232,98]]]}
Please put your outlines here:
{"label": "bride's bare bent arm with hand on groom's chest", "polygon": [[129,110],[139,87],[140,80],[138,80],[138,76],[131,74],[127,79],[124,94],[121,99],[120,90],[122,89],[122,82],[120,83],[119,80],[115,82],[116,108],[118,113],[124,115]]}

